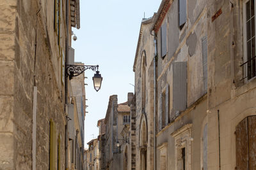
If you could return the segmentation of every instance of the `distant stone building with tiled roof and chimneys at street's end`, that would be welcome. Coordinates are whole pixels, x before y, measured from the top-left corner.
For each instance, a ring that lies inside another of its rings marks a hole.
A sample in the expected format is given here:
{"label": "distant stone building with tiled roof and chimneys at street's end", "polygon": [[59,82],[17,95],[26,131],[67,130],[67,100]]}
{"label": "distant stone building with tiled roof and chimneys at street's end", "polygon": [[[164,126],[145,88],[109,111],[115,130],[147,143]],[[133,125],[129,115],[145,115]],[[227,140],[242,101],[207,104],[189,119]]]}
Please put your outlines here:
{"label": "distant stone building with tiled roof and chimneys at street's end", "polygon": [[[131,152],[130,143],[130,124],[131,110],[130,104],[133,94],[128,93],[128,99],[125,103],[118,103],[116,95],[109,97],[108,110],[104,123],[106,125],[106,134],[104,138],[104,152],[106,169],[128,169],[129,153]],[[102,146],[103,147],[103,146]]]}

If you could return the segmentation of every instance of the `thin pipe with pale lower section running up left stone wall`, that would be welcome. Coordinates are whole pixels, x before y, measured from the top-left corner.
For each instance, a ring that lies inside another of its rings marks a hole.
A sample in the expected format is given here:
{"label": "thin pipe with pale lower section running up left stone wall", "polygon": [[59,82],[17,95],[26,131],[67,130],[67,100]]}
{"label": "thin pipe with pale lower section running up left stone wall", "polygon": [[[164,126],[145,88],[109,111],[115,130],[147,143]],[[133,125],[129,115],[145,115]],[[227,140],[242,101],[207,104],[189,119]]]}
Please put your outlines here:
{"label": "thin pipe with pale lower section running up left stone wall", "polygon": [[32,120],[32,169],[36,170],[36,103],[37,103],[37,87],[36,87],[36,43],[37,43],[37,17],[41,10],[36,11],[36,34],[35,34],[35,57],[34,57],[34,87],[33,87],[33,120]]}

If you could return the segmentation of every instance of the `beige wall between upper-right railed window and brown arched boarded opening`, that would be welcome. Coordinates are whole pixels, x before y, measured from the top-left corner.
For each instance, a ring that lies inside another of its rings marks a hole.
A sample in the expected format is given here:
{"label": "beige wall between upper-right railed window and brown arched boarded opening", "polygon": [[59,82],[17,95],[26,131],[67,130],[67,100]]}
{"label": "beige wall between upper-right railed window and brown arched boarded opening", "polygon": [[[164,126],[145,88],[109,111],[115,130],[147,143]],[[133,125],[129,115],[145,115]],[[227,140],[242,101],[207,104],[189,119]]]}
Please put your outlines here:
{"label": "beige wall between upper-right railed window and brown arched boarded opening", "polygon": [[[209,144],[208,169],[236,168],[236,126],[244,118],[256,115],[256,80],[243,78],[244,21],[243,1],[207,1],[209,16]],[[219,120],[218,121],[218,114]],[[219,124],[218,124],[219,123]],[[220,125],[220,131],[218,126]],[[220,141],[219,141],[220,137]],[[220,142],[220,145],[219,145]],[[220,150],[220,152],[219,152]],[[220,162],[219,162],[220,159]]]}

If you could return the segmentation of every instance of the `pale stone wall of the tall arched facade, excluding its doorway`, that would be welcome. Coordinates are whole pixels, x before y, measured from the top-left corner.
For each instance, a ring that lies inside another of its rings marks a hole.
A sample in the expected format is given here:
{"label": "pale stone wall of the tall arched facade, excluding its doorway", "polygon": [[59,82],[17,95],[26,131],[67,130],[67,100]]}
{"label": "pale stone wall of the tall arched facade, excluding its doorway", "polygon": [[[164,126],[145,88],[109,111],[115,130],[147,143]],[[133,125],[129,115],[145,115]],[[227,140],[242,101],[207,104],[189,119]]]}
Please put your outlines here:
{"label": "pale stone wall of the tall arched facade, excluding its doorway", "polygon": [[[136,169],[141,169],[141,124],[147,124],[147,169],[154,169],[154,36],[150,35],[153,18],[141,22],[138,53],[134,60],[135,94],[136,94]],[[144,73],[145,70],[145,73]],[[144,96],[145,93],[145,96]],[[131,108],[131,114],[132,114]],[[131,115],[132,117],[132,115]],[[143,120],[143,121],[142,121]],[[131,120],[131,124],[133,124]],[[131,125],[131,135],[134,127]],[[133,139],[133,138],[131,138]],[[133,147],[131,145],[133,153]],[[133,157],[132,157],[133,158]],[[135,162],[134,162],[135,163]],[[132,164],[132,168],[134,165]]]}

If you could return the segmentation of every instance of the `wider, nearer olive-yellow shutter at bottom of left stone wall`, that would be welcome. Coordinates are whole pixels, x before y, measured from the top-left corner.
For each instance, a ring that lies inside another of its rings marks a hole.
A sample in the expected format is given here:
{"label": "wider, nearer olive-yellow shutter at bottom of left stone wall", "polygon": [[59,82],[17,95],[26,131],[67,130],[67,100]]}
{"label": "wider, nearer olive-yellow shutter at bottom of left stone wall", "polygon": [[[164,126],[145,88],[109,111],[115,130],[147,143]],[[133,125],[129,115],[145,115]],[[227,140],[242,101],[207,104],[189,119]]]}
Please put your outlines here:
{"label": "wider, nearer olive-yellow shutter at bottom of left stone wall", "polygon": [[50,170],[56,170],[56,153],[57,153],[57,136],[56,124],[50,120]]}

